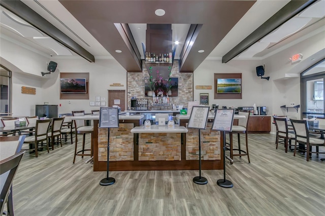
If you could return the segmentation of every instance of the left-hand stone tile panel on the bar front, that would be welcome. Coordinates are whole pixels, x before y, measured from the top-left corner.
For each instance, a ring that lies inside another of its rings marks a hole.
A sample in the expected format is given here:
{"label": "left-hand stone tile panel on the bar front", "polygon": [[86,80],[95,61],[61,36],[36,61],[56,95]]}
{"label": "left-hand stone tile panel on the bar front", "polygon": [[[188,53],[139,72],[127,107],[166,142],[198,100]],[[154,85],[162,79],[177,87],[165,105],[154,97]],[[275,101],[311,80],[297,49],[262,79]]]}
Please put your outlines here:
{"label": "left-hand stone tile panel on the bar front", "polygon": [[[134,124],[122,123],[119,128],[110,128],[110,161],[133,161]],[[107,128],[98,129],[98,160],[107,161]]]}

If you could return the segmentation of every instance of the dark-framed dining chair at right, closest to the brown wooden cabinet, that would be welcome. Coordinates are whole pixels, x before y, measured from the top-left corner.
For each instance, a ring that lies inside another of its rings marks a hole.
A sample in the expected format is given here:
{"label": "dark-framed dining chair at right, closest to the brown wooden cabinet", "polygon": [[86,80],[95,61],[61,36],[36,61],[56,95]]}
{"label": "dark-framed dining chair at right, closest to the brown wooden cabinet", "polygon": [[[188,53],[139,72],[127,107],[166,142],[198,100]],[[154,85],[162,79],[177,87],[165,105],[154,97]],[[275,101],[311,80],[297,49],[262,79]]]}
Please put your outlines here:
{"label": "dark-framed dining chair at right, closest to the brown wooden cabinet", "polygon": [[288,129],[288,122],[286,118],[277,118],[273,116],[273,119],[275,121],[275,126],[276,126],[276,149],[278,149],[278,144],[280,142],[280,139],[283,139],[284,143],[284,148],[285,148],[285,153],[288,152],[288,143],[289,146],[291,147],[291,140],[295,139],[295,131],[293,133],[289,132]]}

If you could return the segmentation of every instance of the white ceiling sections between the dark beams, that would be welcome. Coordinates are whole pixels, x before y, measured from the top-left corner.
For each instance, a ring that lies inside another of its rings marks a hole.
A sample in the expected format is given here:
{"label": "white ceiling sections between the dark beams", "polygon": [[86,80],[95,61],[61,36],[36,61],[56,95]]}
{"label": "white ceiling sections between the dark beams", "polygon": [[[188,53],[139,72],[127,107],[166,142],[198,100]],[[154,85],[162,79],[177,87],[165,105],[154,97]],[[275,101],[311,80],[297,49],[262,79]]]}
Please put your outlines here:
{"label": "white ceiling sections between the dark beams", "polygon": [[[94,39],[94,37],[67,11],[66,8],[60,4],[59,1],[23,0],[22,2],[32,10],[39,13],[63,33],[68,35],[68,37],[73,39],[89,53],[94,55],[95,58],[112,58],[110,53],[107,52],[104,47]],[[288,0],[257,1],[223,38],[217,47],[209,54],[208,58],[221,58],[288,2]],[[302,12],[299,17],[295,17],[295,20],[289,21],[287,26],[276,29],[274,32],[267,35],[267,37],[263,38],[261,41],[244,51],[238,57],[254,59],[256,56],[258,56],[257,58],[263,59],[270,55],[270,53],[275,54],[279,47],[289,43],[293,44],[291,42],[297,38],[288,37],[288,35],[297,30],[301,30],[301,28],[304,26],[315,22],[315,20],[324,16],[325,0],[315,4],[313,5],[312,12]],[[310,17],[311,15],[313,17]],[[55,57],[62,55],[77,55],[73,51],[63,47],[53,39],[47,37],[47,35],[45,35],[43,32],[40,32],[36,28],[30,26],[28,23],[15,17],[16,16],[13,16],[9,11],[1,7],[1,37],[14,41],[15,43],[20,43],[25,47],[29,47],[34,51],[38,51],[39,53],[48,56]],[[299,32],[300,35],[307,35],[318,28],[324,28],[324,20],[318,22],[315,26],[316,27],[308,27],[302,30]],[[146,24],[129,23],[129,27],[131,28],[133,37],[137,43],[142,58],[144,58],[141,42],[145,43]],[[177,40],[180,43],[184,43],[188,28],[188,24],[172,24],[173,41]],[[19,32],[14,29],[19,29]],[[283,40],[283,38],[287,39]],[[281,40],[283,41],[276,46]],[[272,49],[268,49],[268,47],[272,47]],[[175,54],[176,59],[179,57],[179,52],[180,49],[177,49]],[[256,53],[259,53],[259,55],[256,55]]]}

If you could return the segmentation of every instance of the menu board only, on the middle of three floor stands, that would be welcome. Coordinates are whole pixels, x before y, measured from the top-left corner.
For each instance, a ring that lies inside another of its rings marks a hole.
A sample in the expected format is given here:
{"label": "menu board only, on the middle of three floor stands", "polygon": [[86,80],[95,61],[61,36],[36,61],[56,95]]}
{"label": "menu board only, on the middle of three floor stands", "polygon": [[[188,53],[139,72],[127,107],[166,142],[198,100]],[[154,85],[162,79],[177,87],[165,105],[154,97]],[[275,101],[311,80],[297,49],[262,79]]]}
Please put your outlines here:
{"label": "menu board only, on the middle of three floor stands", "polygon": [[208,122],[209,109],[209,106],[193,106],[187,127],[205,129]]}

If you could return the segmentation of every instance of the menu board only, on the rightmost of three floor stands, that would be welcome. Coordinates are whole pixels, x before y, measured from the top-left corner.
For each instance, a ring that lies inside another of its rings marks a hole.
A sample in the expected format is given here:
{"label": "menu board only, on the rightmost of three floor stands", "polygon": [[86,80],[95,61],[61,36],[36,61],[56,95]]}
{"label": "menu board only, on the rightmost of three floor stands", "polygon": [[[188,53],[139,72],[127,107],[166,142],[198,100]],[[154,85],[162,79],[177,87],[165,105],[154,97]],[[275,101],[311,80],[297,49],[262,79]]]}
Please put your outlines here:
{"label": "menu board only, on the rightmost of three floor stands", "polygon": [[232,131],[234,112],[234,109],[217,109],[212,124],[212,130]]}

